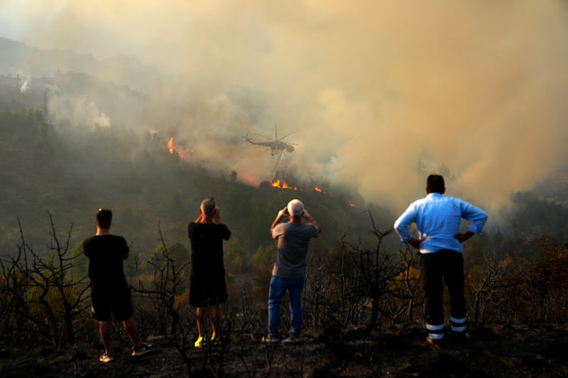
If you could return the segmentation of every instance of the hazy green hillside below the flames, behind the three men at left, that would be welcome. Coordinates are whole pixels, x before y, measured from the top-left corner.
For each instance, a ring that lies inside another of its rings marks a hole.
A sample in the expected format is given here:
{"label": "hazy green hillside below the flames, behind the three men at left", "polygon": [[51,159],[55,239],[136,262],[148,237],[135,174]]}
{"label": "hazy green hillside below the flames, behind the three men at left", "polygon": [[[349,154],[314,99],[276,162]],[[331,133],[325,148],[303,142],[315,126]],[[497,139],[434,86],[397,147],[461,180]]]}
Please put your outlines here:
{"label": "hazy green hillside below the flames, behind the three men at left", "polygon": [[[313,189],[280,189],[265,183],[251,187],[182,160],[168,151],[166,138],[143,138],[124,127],[61,129],[46,123],[40,111],[4,111],[0,130],[0,206],[2,249],[14,252],[20,239],[18,219],[28,243],[48,245],[48,212],[60,237],[72,226],[71,245],[94,232],[99,207],[115,212],[114,232],[126,235],[133,249],[149,255],[159,244],[158,226],[167,243],[187,243],[185,226],[197,217],[200,201],[213,196],[234,236],[247,249],[271,244],[268,228],[275,213],[300,197],[324,230],[324,244],[359,225],[368,225],[361,209],[342,195]],[[70,143],[74,140],[74,143]],[[376,211],[383,216],[384,211]],[[391,222],[385,218],[385,227]]]}

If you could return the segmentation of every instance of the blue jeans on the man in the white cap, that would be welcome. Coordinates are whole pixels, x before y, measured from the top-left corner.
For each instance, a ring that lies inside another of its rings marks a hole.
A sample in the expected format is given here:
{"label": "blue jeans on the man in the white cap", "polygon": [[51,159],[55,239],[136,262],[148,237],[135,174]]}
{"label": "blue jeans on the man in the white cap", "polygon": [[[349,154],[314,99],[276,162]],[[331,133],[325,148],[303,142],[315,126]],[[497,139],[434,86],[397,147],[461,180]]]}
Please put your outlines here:
{"label": "blue jeans on the man in the white cap", "polygon": [[280,326],[280,303],[288,290],[290,299],[290,313],[292,313],[292,324],[290,326],[290,336],[300,337],[302,330],[302,291],[304,289],[305,277],[281,278],[272,276],[270,291],[268,291],[268,333],[271,338],[278,338],[278,328]]}

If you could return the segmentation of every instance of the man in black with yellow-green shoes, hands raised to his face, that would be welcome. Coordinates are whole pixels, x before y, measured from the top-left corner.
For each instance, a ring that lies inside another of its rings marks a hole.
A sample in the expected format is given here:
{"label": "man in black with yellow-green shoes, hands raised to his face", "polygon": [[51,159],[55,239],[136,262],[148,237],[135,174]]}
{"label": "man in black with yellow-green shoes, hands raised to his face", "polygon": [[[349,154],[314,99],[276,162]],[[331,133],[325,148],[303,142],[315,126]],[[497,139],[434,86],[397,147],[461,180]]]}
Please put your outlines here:
{"label": "man in black with yellow-green shoes, hands raised to his face", "polygon": [[202,201],[200,216],[187,225],[187,235],[191,241],[190,305],[196,307],[199,332],[195,347],[201,348],[207,343],[204,329],[205,308],[210,307],[211,343],[218,344],[221,321],[219,304],[224,304],[227,299],[223,240],[229,240],[231,230],[221,219],[214,199]]}

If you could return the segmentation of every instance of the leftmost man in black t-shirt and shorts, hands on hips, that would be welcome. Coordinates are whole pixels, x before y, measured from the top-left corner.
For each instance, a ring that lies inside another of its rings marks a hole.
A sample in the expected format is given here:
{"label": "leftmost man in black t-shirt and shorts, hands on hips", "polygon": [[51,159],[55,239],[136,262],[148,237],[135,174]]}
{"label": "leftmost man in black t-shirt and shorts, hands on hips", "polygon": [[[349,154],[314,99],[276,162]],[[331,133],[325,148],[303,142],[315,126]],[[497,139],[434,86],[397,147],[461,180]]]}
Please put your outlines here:
{"label": "leftmost man in black t-shirt and shorts, hands on hips", "polygon": [[148,345],[140,343],[134,322],[130,287],[126,284],[122,262],[129,257],[129,246],[123,237],[110,234],[112,211],[99,209],[94,224],[97,234],[83,241],[84,255],[89,257],[89,279],[93,316],[99,321],[104,345],[101,362],[114,360],[111,347],[111,313],[122,322],[132,342],[133,356],[145,355]]}

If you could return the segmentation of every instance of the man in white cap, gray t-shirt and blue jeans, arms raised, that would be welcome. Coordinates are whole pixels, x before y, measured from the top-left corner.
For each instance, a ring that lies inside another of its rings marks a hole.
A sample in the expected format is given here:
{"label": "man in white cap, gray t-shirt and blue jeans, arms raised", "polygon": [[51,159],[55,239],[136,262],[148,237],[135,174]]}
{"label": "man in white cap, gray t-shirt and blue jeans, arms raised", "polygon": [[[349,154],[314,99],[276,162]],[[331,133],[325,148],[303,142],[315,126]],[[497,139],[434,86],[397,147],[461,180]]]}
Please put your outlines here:
{"label": "man in white cap, gray t-shirt and blue jeans, arms raised", "polygon": [[[289,222],[280,223],[288,216]],[[310,224],[302,223],[305,218]],[[271,226],[272,237],[278,240],[276,261],[268,293],[268,335],[264,342],[278,342],[280,326],[280,303],[286,291],[290,299],[292,322],[290,337],[285,341],[300,339],[302,328],[302,291],[306,277],[306,255],[311,238],[321,232],[320,224],[304,209],[300,200],[293,199],[288,206],[278,211]]]}

